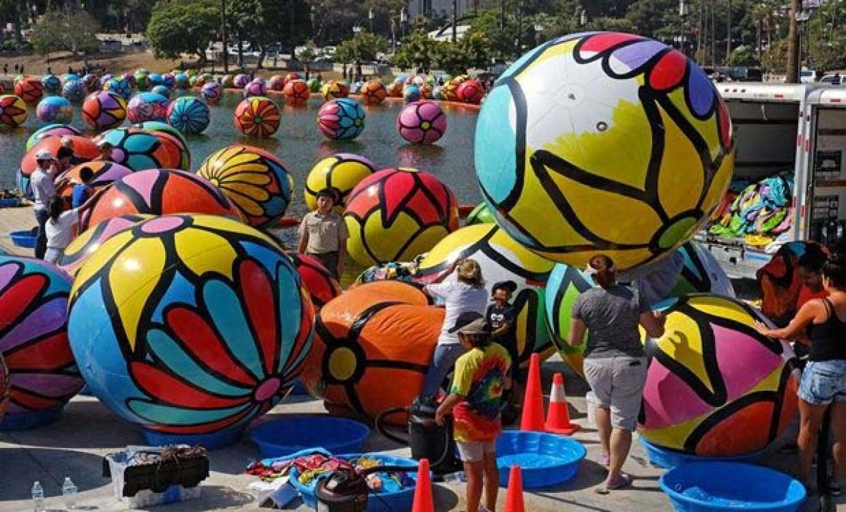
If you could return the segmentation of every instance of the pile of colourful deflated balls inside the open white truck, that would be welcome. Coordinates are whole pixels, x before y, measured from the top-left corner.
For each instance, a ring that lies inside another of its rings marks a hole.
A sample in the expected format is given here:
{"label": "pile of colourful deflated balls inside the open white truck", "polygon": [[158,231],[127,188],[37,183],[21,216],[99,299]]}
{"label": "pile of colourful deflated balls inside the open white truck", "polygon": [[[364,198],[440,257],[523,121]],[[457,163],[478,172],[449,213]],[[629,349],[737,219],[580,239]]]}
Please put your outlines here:
{"label": "pile of colourful deflated balls inside the open white truck", "polygon": [[708,232],[720,237],[745,237],[754,245],[772,242],[792,226],[793,183],[793,172],[780,172],[751,183],[734,197]]}

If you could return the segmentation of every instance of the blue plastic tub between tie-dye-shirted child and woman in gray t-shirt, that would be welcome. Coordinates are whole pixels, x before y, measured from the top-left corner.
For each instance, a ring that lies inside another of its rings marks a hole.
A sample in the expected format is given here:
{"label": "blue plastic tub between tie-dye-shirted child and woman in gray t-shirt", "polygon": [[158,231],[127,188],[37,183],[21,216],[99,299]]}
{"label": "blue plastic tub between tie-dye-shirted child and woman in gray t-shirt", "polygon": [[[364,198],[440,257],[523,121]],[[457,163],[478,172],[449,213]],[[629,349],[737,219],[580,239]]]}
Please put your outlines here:
{"label": "blue plastic tub between tie-dye-shirted child and woman in gray t-shirt", "polygon": [[520,466],[523,487],[536,489],[567,482],[579,471],[587,450],[572,438],[542,432],[506,430],[497,440],[499,485],[508,487],[508,472]]}

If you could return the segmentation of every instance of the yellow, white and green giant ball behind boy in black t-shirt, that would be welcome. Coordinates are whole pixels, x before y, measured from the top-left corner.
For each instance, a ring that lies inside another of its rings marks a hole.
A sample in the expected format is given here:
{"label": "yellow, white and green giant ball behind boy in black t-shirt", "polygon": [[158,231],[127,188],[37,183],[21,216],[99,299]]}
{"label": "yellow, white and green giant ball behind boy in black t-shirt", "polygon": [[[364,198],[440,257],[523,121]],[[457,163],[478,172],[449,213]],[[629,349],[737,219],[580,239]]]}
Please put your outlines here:
{"label": "yellow, white and green giant ball behind boy in black t-shirt", "polygon": [[496,224],[464,226],[453,231],[426,254],[415,273],[415,281],[422,283],[454,281],[448,275],[457,259],[475,259],[481,266],[488,295],[499,281],[514,281],[511,303],[517,312],[514,337],[517,340],[516,362],[529,365],[532,353],[546,359],[555,352],[549,335],[544,295],[554,263],[524,248]]}

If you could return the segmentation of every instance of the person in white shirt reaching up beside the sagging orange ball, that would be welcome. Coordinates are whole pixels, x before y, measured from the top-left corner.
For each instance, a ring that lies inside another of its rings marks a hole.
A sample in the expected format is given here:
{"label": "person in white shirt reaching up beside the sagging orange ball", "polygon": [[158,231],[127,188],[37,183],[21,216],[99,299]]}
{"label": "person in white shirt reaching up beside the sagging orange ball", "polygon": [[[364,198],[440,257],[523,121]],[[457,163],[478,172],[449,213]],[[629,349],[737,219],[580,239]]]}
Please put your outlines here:
{"label": "person in white shirt reaching up beside the sagging orange ball", "polygon": [[[453,271],[454,280],[449,277]],[[455,361],[464,354],[458,331],[453,330],[455,321],[461,313],[484,314],[487,307],[487,291],[479,262],[475,259],[456,260],[447,275],[444,282],[424,288],[431,297],[443,299],[446,312],[441,335],[437,339],[435,353],[426,373],[422,395],[436,395]]]}

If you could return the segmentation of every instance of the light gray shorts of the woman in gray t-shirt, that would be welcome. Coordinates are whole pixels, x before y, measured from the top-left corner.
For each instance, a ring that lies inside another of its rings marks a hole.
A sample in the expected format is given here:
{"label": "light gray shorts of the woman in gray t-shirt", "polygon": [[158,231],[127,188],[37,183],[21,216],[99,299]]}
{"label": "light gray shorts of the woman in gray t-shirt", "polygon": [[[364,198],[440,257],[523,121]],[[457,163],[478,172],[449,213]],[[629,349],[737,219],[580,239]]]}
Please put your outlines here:
{"label": "light gray shorts of the woman in gray t-shirt", "polygon": [[589,357],[584,368],[598,406],[611,410],[612,427],[634,431],[646,384],[646,358]]}

